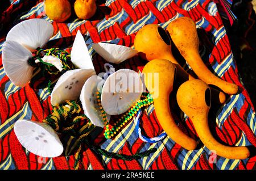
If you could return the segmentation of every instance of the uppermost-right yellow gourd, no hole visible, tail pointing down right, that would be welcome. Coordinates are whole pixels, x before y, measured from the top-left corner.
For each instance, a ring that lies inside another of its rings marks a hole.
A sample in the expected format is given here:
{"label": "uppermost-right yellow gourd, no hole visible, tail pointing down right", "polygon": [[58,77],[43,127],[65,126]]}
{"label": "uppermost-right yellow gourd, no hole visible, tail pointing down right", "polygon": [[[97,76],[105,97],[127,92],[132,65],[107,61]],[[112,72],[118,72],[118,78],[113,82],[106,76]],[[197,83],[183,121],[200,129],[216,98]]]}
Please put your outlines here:
{"label": "uppermost-right yellow gourd, no hole visible, tail pointing down right", "polygon": [[219,87],[227,94],[237,93],[237,85],[216,77],[205,66],[199,54],[199,38],[197,36],[196,24],[191,18],[181,17],[175,19],[168,25],[167,31],[170,33],[171,39],[181,55],[202,81]]}

